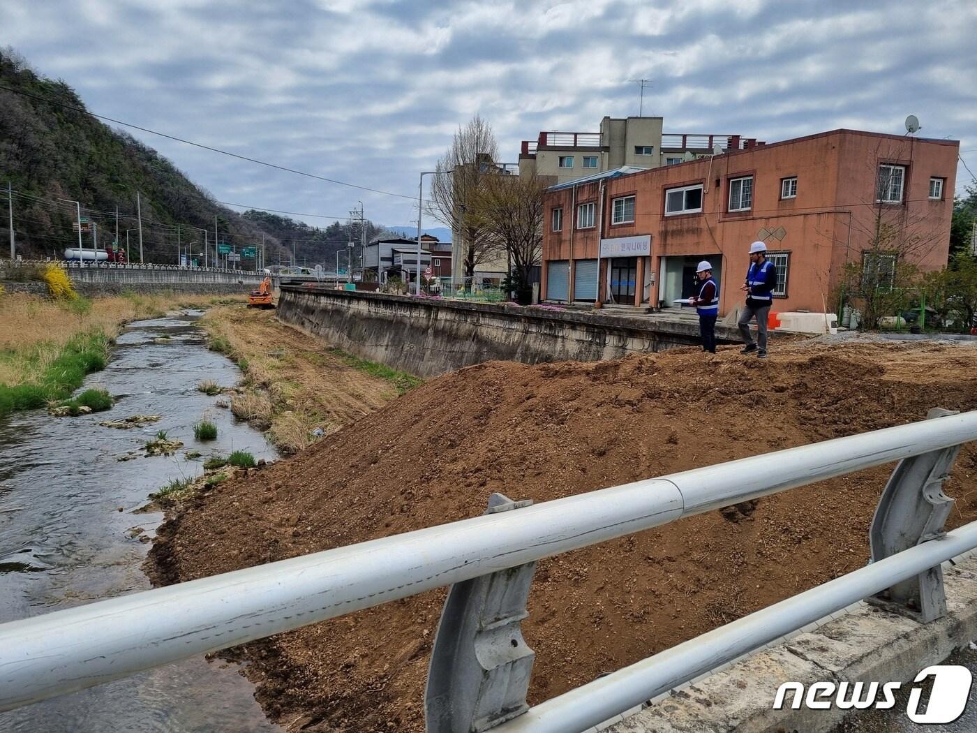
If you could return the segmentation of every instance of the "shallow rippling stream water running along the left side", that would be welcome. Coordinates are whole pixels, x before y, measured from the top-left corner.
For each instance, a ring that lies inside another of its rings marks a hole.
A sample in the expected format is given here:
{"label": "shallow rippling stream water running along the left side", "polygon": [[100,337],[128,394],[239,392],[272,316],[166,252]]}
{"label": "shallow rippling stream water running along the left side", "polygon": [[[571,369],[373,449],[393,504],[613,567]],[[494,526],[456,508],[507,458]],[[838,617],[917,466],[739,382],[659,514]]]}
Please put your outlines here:
{"label": "shallow rippling stream water running along the left side", "polygon": [[[201,379],[232,386],[240,376],[207,350],[195,325],[200,315],[185,311],[125,329],[106,370],[85,384],[114,395],[111,410],[0,418],[0,623],[149,588],[140,566],[162,515],[134,512],[171,479],[202,472],[202,458],[189,460],[188,451],[276,457],[261,433],[216,407],[220,398],[197,391]],[[133,414],[161,418],[131,430],[99,425]],[[193,423],[204,414],[218,438],[201,443]],[[157,430],[184,448],[146,456],[143,446]],[[0,712],[0,731],[280,731],[253,691],[236,666],[198,658]]]}

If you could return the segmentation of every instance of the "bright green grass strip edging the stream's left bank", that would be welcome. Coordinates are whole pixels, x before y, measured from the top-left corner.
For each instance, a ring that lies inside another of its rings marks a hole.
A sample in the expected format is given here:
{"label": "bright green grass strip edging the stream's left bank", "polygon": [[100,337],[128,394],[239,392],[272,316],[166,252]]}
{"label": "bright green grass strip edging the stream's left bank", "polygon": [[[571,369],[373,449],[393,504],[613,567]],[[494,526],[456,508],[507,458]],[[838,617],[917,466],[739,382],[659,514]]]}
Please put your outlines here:
{"label": "bright green grass strip edging the stream's left bank", "polygon": [[[108,362],[111,339],[102,330],[93,330],[72,336],[58,358],[38,374],[35,381],[11,387],[0,384],[0,415],[18,410],[37,410],[50,402],[60,402],[70,397],[93,371],[101,371]],[[12,358],[12,353],[3,355]],[[0,357],[3,358],[3,357]],[[40,351],[28,356],[28,364],[40,367]]]}

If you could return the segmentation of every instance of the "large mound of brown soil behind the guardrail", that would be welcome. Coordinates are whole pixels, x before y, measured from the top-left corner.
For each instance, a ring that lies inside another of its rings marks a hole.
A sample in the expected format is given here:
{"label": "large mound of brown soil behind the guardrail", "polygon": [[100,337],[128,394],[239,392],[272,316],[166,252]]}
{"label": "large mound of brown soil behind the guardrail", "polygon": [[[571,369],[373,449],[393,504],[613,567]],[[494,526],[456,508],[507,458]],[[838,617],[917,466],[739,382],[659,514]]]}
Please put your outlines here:
{"label": "large mound of brown soil behind the guardrail", "polygon": [[[415,389],[294,458],[228,482],[164,525],[157,580],[200,578],[481,514],[977,409],[977,349],[790,345],[597,364],[493,362]],[[525,633],[531,703],[865,565],[891,467],[539,563]],[[947,492],[977,519],[977,448]],[[444,591],[243,647],[292,729],[422,731]]]}

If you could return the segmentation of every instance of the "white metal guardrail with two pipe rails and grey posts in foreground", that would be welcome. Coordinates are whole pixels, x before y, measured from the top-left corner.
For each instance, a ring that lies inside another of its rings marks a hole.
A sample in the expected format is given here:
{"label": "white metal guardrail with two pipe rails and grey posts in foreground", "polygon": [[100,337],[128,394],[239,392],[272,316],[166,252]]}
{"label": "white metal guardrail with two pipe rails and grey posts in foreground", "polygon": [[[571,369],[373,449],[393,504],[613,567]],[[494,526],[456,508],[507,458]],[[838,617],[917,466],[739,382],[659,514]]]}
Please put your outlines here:
{"label": "white metal guardrail with two pipe rails and grey posts in foreground", "polygon": [[[926,622],[946,612],[940,563],[977,547],[944,534],[942,484],[977,410],[488,513],[0,625],[0,710],[452,584],[435,641],[431,733],[579,731],[874,595]],[[537,560],[760,496],[900,461],[871,528],[872,563],[530,709],[523,640]]]}

